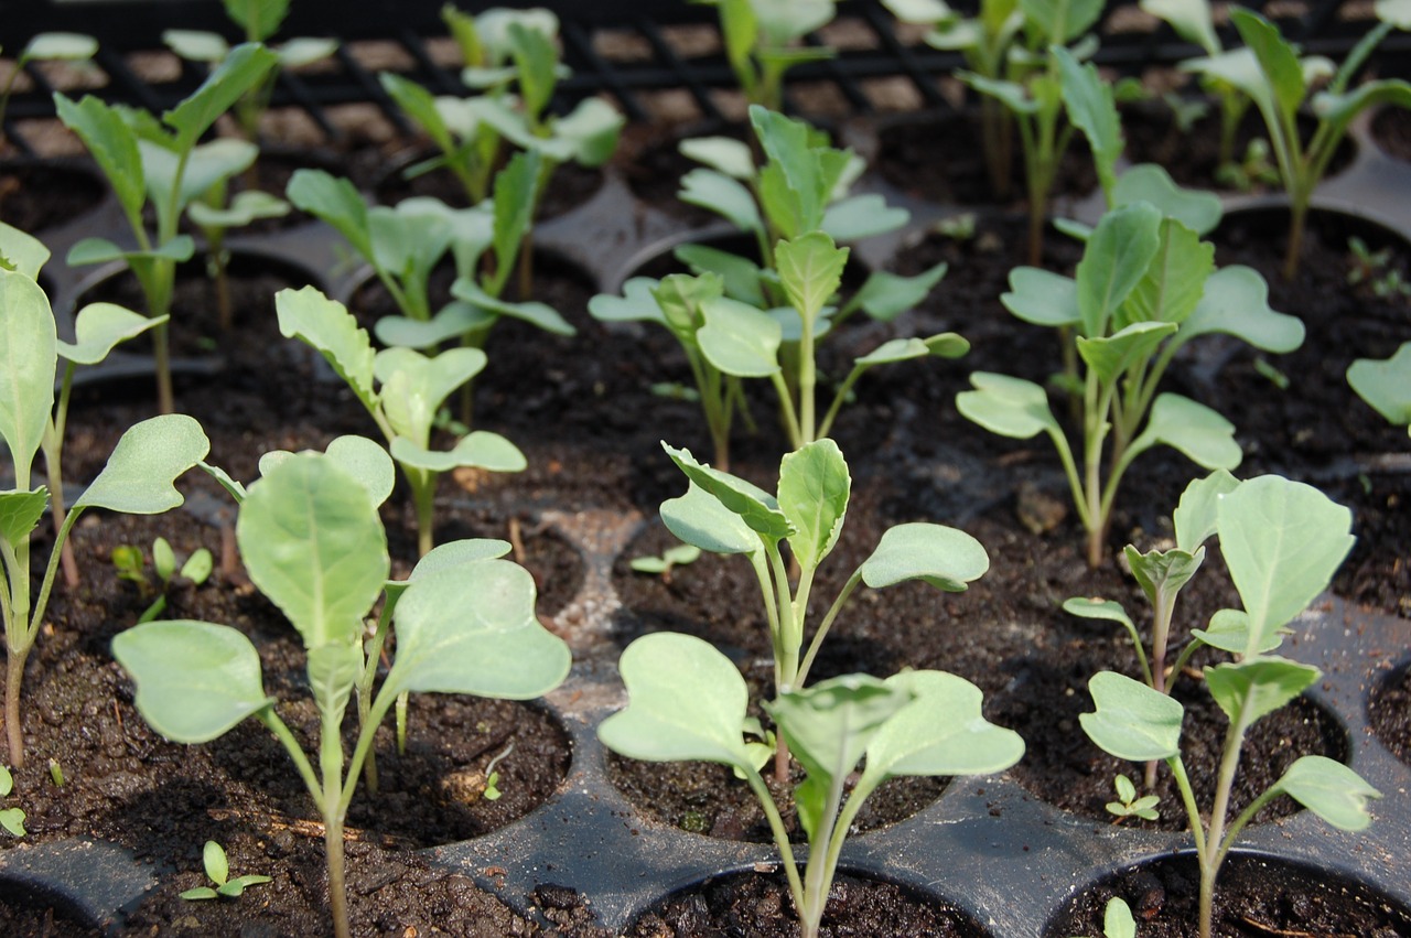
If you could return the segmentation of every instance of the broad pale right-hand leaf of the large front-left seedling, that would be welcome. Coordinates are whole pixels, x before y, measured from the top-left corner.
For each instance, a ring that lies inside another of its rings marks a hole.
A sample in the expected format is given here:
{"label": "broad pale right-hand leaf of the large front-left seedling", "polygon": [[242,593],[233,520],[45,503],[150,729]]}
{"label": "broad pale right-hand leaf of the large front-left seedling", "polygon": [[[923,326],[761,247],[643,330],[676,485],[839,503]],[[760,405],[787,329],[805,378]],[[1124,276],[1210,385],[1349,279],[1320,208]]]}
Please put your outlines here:
{"label": "broad pale right-hand leaf of the large front-left seedling", "polygon": [[540,697],[569,674],[569,646],[535,615],[533,577],[508,560],[418,575],[394,612],[396,659],[382,694]]}

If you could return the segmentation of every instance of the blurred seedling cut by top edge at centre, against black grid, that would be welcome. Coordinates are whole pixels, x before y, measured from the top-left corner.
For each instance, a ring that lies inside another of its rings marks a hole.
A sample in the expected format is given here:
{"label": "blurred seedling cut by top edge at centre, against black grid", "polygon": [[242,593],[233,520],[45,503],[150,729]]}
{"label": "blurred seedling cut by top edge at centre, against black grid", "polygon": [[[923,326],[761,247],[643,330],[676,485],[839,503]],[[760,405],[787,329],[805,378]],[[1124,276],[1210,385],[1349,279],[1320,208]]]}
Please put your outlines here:
{"label": "blurred seedling cut by top edge at centre, against black grid", "polygon": [[749,104],[783,110],[785,73],[803,62],[831,59],[824,45],[801,45],[837,16],[838,0],[691,0],[720,13],[725,59]]}

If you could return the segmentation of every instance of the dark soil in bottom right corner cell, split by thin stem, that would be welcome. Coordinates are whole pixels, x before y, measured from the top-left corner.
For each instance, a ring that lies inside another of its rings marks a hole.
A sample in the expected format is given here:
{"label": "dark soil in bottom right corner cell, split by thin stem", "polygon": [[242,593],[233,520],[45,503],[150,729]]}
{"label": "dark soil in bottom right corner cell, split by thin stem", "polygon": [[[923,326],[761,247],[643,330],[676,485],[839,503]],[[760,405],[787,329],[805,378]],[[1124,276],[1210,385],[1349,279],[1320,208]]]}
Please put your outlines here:
{"label": "dark soil in bottom right corner cell, split by thin stem", "polygon": [[[1108,900],[1122,897],[1141,938],[1195,934],[1199,873],[1189,856],[1165,859],[1084,889],[1048,924],[1046,938],[1101,935]],[[1230,856],[1215,886],[1218,938],[1357,935],[1404,938],[1411,915],[1370,890],[1288,863]]]}

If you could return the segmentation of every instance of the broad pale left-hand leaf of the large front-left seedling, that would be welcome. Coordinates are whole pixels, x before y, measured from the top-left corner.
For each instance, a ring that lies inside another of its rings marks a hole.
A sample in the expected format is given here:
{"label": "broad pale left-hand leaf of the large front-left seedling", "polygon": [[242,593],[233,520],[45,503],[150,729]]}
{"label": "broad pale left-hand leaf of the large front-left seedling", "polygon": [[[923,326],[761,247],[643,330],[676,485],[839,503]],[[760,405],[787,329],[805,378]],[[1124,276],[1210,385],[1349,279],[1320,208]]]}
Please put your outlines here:
{"label": "broad pale left-hand leaf of the large front-left seedling", "polygon": [[226,625],[147,622],[114,636],[113,657],[137,684],[137,712],[172,742],[207,742],[275,702],[255,646]]}

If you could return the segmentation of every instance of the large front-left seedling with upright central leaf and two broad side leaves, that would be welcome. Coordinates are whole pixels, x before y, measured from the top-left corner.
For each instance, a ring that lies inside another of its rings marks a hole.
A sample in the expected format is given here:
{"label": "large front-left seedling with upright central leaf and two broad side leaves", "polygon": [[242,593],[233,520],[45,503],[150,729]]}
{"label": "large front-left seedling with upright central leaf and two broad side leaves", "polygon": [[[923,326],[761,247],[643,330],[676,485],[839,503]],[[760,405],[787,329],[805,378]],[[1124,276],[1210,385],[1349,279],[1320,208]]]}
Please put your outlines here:
{"label": "large front-left seedling with upright central leaf and two broad side leaves", "polygon": [[114,638],[113,656],[137,684],[138,712],[166,739],[207,742],[248,717],[270,728],[323,818],[334,934],[347,938],[343,822],[394,701],[413,691],[539,697],[567,674],[569,649],[539,625],[533,578],[522,567],[480,559],[418,577],[396,599],[396,656],[344,759],[344,711],[370,667],[363,622],[389,570],[375,497],[339,460],[291,454],[246,491],[236,539],[251,581],[303,639],[320,718],[312,757],[265,694],[260,656],[241,632],[148,622]]}

